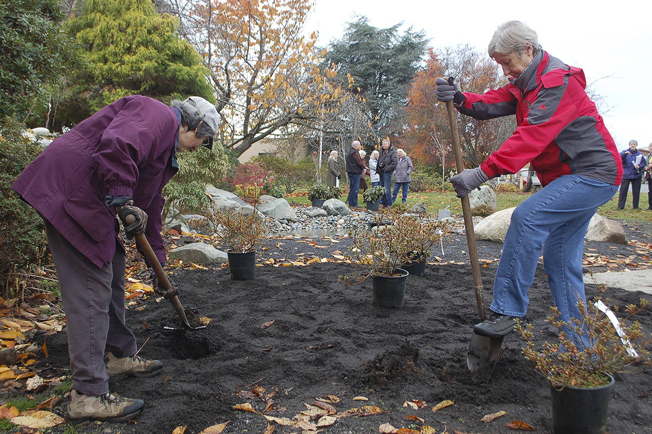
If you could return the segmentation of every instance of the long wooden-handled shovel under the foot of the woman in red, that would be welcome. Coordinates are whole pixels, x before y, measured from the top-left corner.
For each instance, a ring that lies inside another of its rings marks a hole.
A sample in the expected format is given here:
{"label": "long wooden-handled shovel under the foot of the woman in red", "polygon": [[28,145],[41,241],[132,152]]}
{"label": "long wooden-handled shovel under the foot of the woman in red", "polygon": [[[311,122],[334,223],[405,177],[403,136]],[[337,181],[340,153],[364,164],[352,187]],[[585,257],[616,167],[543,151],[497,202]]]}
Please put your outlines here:
{"label": "long wooden-handled shovel under the foot of the woman in red", "polygon": [[[453,78],[449,78],[449,83],[452,85]],[[455,107],[452,101],[446,102],[446,109],[449,116],[449,124],[451,125],[452,145],[455,152],[455,164],[457,172],[460,173],[464,170],[464,163],[462,162],[462,148],[460,148],[460,135],[457,131],[455,122]],[[462,198],[462,215],[464,215],[464,228],[466,229],[466,242],[469,245],[469,262],[471,262],[471,273],[473,274],[473,289],[475,290],[475,303],[478,306],[478,313],[480,320],[486,319],[486,312],[484,310],[484,295],[482,293],[482,276],[480,275],[480,262],[478,260],[478,250],[475,245],[475,232],[473,231],[473,220],[471,219],[471,204],[469,203],[468,195]],[[469,344],[469,353],[466,356],[466,364],[469,372],[481,377],[482,379],[490,379],[496,362],[500,355],[500,346],[503,344],[503,338],[490,338],[489,336],[482,336],[473,332],[471,335],[471,343]]]}

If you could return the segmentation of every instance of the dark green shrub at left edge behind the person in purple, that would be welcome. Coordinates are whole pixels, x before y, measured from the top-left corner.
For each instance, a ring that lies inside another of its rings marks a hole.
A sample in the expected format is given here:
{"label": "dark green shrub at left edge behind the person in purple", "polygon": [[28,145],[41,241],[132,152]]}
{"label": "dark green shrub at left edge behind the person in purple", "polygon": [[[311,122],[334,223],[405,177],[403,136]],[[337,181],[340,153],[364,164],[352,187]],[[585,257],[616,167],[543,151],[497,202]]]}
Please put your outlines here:
{"label": "dark green shrub at left edge behind the person in purple", "polygon": [[[15,273],[40,265],[48,256],[43,220],[37,211],[11,190],[20,172],[43,150],[22,136],[22,125],[0,122],[0,282],[4,294],[18,290]],[[16,281],[16,283],[14,283]]]}

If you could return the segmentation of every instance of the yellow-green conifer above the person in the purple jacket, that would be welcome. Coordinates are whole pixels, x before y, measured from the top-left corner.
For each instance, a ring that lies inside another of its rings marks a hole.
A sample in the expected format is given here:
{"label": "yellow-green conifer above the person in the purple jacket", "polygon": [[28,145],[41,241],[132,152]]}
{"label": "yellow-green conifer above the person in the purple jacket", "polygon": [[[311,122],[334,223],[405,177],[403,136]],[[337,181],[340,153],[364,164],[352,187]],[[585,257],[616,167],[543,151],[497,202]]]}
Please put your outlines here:
{"label": "yellow-green conifer above the person in the purple jacket", "polygon": [[58,124],[76,124],[128,94],[168,103],[190,95],[214,100],[197,51],[177,37],[178,21],[151,0],[86,0],[63,28],[89,67],[73,74]]}

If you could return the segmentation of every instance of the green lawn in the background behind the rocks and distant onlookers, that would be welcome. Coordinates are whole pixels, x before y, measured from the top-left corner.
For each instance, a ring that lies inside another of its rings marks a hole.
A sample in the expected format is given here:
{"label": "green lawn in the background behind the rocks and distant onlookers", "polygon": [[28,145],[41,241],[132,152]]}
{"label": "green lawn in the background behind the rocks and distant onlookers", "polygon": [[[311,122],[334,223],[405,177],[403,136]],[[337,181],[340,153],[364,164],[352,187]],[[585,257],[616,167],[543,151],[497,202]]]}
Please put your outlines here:
{"label": "green lawn in the background behind the rocks and distant onlookers", "polygon": [[[506,208],[518,206],[518,204],[526,200],[528,197],[530,197],[530,193],[522,193],[518,191],[496,193],[496,210],[505,210]],[[346,202],[346,198],[347,197],[343,195],[340,197],[340,200]],[[310,200],[308,200],[307,197],[288,197],[286,200],[288,200],[290,204],[310,205]],[[417,202],[422,202],[426,206],[426,210],[430,213],[437,213],[437,210],[443,210],[447,205],[449,205],[449,210],[451,210],[452,214],[462,214],[462,202],[460,202],[460,199],[455,197],[455,194],[452,191],[445,191],[443,193],[437,191],[432,193],[408,193],[408,207]],[[364,206],[362,195],[359,195],[358,197],[358,204]],[[652,221],[652,211],[645,210],[645,208],[647,208],[647,192],[641,193],[640,210],[632,210],[631,195],[629,195],[625,210],[616,210],[617,204],[618,195],[616,193],[612,200],[600,206],[598,213],[602,215],[602,217],[608,217],[610,219]]]}

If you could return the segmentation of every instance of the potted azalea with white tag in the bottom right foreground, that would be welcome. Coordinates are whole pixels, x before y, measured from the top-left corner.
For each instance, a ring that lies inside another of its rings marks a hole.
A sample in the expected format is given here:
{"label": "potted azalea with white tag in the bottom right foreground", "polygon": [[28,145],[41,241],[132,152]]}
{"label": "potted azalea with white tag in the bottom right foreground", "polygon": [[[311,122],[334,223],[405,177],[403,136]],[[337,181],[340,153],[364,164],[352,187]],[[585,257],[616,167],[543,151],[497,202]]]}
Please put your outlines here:
{"label": "potted azalea with white tag in the bottom right foreground", "polygon": [[598,298],[586,306],[580,300],[577,306],[582,319],[572,321],[561,320],[559,310],[552,307],[548,321],[557,329],[559,339],[545,342],[541,348],[533,343],[531,325],[517,321],[516,330],[526,340],[524,355],[550,382],[555,434],[604,434],[614,374],[649,364],[646,346],[652,339],[638,321],[630,320],[647,301],[640,299],[638,305],[626,306],[623,321],[627,325],[608,303],[608,299]]}

